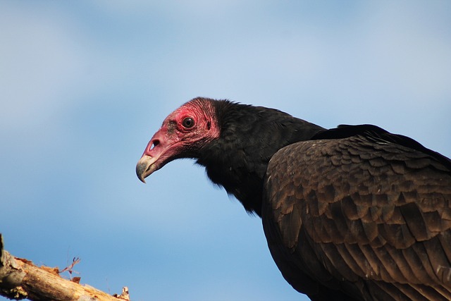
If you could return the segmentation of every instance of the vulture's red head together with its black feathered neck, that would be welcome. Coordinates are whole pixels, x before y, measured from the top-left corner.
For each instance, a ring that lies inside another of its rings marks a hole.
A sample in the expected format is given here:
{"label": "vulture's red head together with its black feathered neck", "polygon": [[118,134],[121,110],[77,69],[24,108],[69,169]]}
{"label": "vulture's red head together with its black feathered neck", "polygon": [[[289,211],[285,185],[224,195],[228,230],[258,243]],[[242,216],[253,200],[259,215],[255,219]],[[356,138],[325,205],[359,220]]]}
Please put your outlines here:
{"label": "vulture's red head together with its black feathered neck", "polygon": [[261,214],[266,167],[278,149],[322,130],[276,109],[197,97],[169,114],[136,166],[144,178],[170,161],[196,159],[209,179]]}

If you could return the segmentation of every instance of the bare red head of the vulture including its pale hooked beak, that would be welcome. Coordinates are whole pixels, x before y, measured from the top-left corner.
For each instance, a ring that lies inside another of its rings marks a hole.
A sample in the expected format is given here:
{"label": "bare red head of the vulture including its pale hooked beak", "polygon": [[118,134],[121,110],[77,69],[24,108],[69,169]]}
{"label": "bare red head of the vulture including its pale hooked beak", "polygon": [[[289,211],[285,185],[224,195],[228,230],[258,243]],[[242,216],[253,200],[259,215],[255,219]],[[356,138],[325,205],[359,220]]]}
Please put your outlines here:
{"label": "bare red head of the vulture including its pale hooked beak", "polygon": [[144,178],[178,158],[195,158],[206,143],[219,137],[213,104],[193,99],[173,111],[147,144],[136,165],[138,178]]}

